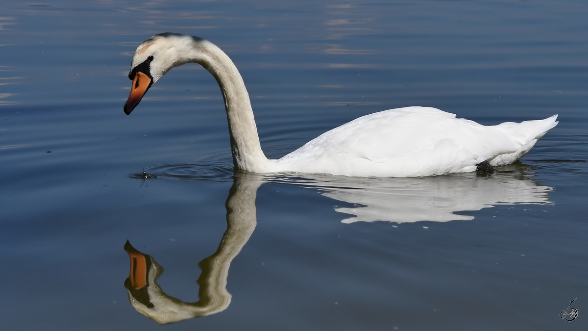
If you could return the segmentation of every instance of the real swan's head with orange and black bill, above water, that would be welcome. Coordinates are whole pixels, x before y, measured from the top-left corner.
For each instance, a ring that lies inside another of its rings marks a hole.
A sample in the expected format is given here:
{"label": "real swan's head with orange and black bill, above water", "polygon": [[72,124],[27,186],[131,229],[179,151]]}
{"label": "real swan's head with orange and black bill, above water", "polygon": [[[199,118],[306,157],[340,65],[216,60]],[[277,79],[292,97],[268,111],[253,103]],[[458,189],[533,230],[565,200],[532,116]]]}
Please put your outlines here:
{"label": "real swan's head with orange and black bill, above water", "polygon": [[169,69],[186,62],[195,62],[190,57],[193,55],[191,51],[195,49],[193,45],[200,44],[203,40],[198,37],[166,32],[143,41],[135,51],[131,62],[129,79],[133,83],[131,94],[125,103],[125,114],[131,114],[131,111],[141,102],[143,95]]}

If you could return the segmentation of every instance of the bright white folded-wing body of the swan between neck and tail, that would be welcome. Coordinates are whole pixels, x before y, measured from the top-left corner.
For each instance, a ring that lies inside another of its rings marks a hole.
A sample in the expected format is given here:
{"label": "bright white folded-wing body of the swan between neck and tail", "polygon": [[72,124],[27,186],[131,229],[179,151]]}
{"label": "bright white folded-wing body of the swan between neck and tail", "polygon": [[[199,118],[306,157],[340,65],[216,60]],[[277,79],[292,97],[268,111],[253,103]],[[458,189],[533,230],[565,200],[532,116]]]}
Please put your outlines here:
{"label": "bright white folded-wing body of the swan between neck and tail", "polygon": [[278,160],[289,171],[343,176],[412,177],[473,171],[521,143],[430,107],[366,115],[309,141]]}

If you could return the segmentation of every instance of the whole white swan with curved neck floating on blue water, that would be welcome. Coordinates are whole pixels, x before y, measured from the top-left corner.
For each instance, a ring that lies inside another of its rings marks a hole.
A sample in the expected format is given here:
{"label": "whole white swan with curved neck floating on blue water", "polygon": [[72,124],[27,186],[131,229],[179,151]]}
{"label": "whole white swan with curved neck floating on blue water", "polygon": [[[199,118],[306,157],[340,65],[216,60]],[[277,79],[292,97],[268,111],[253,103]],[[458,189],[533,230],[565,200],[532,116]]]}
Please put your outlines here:
{"label": "whole white swan with curved neck floating on blue water", "polygon": [[352,177],[423,177],[513,163],[550,128],[544,120],[485,126],[430,107],[405,107],[365,115],[269,160],[259,136],[243,78],[219,47],[206,39],[166,32],[143,42],[133,55],[128,115],[169,69],[195,62],[216,78],[225,101],[236,170],[316,173]]}

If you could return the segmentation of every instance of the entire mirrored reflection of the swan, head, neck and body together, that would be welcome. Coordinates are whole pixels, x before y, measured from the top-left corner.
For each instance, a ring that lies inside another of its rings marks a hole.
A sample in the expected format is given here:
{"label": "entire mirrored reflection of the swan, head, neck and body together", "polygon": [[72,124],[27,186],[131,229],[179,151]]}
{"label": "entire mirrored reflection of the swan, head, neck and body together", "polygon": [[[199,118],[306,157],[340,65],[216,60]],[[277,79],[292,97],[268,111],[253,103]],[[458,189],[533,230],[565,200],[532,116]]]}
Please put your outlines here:
{"label": "entire mirrored reflection of the swan, head, neck and body together", "polygon": [[421,178],[323,175],[278,178],[237,173],[226,200],[225,234],[220,238],[216,252],[199,263],[202,269],[197,281],[200,300],[187,303],[163,292],[157,283],[163,268],[153,257],[134,249],[127,241],[125,250],[131,258],[131,272],[125,287],[132,306],[159,324],[175,323],[225,310],[231,300],[226,290],[229,266],[255,229],[255,198],[263,182],[295,183],[316,189],[323,196],[352,204],[352,207],[335,209],[355,215],[342,220],[343,223],[472,220],[473,216],[455,212],[480,210],[499,204],[550,204],[548,193],[553,190],[552,187],[534,183],[526,171],[503,171],[490,177],[455,174]]}

